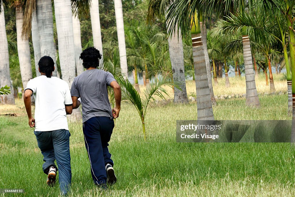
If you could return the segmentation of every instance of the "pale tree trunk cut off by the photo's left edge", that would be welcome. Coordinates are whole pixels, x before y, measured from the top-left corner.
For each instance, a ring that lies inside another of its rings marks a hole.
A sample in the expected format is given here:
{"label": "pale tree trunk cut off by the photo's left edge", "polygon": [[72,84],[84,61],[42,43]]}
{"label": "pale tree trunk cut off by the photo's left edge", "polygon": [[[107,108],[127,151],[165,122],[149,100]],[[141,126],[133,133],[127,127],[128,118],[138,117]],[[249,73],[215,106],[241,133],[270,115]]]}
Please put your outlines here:
{"label": "pale tree trunk cut off by the photo's left edge", "polygon": [[[13,90],[10,82],[8,43],[5,30],[4,8],[2,4],[0,9],[0,87],[7,85],[10,87],[10,90]],[[0,95],[0,104],[14,105],[14,95],[12,93],[9,95]]]}

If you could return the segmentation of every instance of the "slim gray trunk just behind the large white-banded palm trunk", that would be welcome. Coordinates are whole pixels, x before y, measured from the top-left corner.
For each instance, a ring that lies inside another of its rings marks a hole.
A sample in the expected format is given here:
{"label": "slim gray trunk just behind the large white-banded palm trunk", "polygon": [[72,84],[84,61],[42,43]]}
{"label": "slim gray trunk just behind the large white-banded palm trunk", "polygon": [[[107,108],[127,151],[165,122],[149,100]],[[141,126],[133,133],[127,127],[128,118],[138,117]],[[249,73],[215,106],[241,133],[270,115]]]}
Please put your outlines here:
{"label": "slim gray trunk just behind the large white-banded palm trunk", "polygon": [[204,47],[204,55],[205,55],[205,61],[206,61],[206,69],[207,69],[207,77],[208,77],[211,102],[213,105],[216,105],[216,100],[214,97],[214,92],[212,87],[211,67],[210,67],[208,48],[207,48],[207,29],[206,29],[206,24],[203,25],[203,22],[200,22],[200,30],[202,35],[203,47]]}

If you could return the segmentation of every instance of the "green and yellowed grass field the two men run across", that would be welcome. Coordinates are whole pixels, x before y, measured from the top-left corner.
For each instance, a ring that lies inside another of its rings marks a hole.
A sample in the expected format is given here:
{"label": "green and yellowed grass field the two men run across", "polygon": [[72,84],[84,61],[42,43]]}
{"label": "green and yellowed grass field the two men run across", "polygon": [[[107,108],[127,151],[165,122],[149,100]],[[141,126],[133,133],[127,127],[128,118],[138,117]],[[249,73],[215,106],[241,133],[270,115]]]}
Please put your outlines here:
{"label": "green and yellowed grass field the two men run across", "polygon": [[[277,90],[286,91],[284,80],[276,83]],[[187,85],[189,94],[195,87]],[[219,85],[214,91],[222,92]],[[122,105],[109,146],[118,182],[107,191],[92,183],[81,123],[70,123],[69,196],[295,196],[295,149],[289,143],[176,143],[176,120],[196,119],[196,109],[195,102],[151,106],[144,141],[135,108]],[[58,196],[58,184],[45,184],[43,157],[23,102],[0,105],[0,111],[18,115],[0,116],[0,188],[24,189],[18,196]],[[291,120],[286,94],[260,96],[259,109],[245,107],[245,99],[217,100],[213,111],[224,120]]]}

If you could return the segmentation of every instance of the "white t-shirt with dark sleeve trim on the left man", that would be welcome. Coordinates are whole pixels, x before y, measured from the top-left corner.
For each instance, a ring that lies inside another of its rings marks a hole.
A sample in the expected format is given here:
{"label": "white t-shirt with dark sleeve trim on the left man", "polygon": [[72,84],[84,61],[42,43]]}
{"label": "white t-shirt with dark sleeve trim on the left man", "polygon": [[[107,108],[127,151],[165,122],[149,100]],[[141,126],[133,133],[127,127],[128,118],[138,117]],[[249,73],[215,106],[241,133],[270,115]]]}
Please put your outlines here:
{"label": "white t-shirt with dark sleeve trim on the left man", "polygon": [[73,101],[67,82],[41,75],[31,79],[26,89],[32,90],[35,98],[35,131],[69,130],[65,105]]}

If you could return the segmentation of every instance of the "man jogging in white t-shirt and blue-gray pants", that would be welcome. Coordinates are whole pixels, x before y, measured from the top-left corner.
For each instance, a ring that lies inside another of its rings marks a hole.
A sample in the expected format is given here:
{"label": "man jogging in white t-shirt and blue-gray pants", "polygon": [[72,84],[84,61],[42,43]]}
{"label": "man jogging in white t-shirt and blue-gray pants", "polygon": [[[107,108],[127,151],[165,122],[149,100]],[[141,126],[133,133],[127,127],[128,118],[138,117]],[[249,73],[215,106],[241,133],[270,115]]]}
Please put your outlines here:
{"label": "man jogging in white t-shirt and blue-gray pants", "polygon": [[[39,63],[41,76],[31,79],[24,90],[24,104],[29,126],[35,127],[38,147],[44,157],[43,172],[47,184],[53,186],[59,168],[60,191],[67,194],[71,185],[70,132],[66,114],[72,113],[72,98],[67,82],[52,76],[53,59],[43,56]],[[32,116],[31,96],[35,98],[35,116]],[[57,166],[54,163],[56,159]]]}

